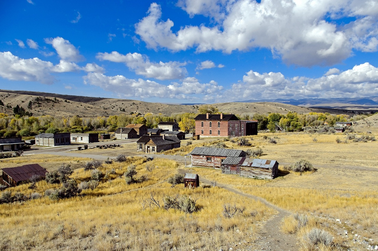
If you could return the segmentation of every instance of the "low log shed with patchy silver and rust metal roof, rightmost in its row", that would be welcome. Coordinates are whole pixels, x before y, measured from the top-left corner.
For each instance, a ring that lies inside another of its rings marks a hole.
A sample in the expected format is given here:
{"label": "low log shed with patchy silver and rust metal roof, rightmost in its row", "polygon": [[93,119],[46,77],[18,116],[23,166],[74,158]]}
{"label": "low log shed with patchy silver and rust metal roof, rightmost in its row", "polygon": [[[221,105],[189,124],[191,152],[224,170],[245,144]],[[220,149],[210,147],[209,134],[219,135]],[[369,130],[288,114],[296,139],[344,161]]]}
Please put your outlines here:
{"label": "low log shed with patchy silver and rust metal roof, rightmost in its row", "polygon": [[240,166],[240,176],[257,179],[274,179],[278,173],[276,160],[245,159]]}

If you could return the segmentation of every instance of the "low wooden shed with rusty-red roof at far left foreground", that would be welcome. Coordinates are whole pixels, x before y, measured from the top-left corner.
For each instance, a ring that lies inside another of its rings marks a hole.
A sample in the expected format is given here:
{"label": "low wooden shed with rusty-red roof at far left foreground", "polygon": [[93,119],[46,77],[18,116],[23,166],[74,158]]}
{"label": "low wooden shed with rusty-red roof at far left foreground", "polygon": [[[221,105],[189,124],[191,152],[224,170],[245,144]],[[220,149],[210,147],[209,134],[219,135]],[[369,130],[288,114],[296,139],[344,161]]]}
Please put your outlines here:
{"label": "low wooden shed with rusty-red roof at far left foreground", "polygon": [[3,174],[0,176],[0,184],[11,187],[28,182],[33,176],[44,178],[46,169],[38,164],[23,165],[11,168],[3,168]]}

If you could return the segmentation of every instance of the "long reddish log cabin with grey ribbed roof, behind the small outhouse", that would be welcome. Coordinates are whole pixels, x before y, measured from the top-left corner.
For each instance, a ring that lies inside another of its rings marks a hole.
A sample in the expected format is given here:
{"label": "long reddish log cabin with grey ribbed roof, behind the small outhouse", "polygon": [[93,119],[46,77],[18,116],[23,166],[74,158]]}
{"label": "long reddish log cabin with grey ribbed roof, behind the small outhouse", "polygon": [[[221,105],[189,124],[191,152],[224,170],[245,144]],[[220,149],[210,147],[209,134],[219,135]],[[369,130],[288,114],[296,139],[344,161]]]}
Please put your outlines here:
{"label": "long reddish log cabin with grey ribbed roof, behind the small outhouse", "polygon": [[191,166],[220,168],[227,157],[245,157],[245,151],[226,148],[195,147],[191,153]]}

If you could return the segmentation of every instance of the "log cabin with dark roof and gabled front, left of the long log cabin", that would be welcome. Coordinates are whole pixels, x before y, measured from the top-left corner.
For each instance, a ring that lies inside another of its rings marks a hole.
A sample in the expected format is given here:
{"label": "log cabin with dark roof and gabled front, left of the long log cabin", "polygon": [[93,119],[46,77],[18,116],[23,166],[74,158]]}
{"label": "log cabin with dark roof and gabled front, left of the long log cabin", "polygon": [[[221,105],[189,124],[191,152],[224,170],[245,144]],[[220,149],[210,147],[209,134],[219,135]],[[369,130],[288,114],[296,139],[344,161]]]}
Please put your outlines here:
{"label": "log cabin with dark roof and gabled front, left of the long log cabin", "polygon": [[136,142],[136,145],[137,151],[161,152],[180,147],[181,141],[176,136],[144,135]]}

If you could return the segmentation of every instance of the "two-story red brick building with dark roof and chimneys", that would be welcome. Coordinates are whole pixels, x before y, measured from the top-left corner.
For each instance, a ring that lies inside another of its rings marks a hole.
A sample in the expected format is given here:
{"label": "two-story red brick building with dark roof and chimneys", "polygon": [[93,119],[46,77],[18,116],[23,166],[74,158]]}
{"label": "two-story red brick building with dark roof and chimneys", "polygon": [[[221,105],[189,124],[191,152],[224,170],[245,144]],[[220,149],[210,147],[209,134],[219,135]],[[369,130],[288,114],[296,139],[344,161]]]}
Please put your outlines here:
{"label": "two-story red brick building with dark roof and chimneys", "polygon": [[240,137],[257,135],[256,120],[240,120],[234,114],[198,114],[195,133],[203,137]]}

